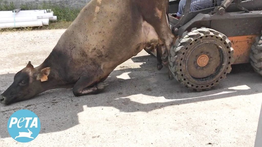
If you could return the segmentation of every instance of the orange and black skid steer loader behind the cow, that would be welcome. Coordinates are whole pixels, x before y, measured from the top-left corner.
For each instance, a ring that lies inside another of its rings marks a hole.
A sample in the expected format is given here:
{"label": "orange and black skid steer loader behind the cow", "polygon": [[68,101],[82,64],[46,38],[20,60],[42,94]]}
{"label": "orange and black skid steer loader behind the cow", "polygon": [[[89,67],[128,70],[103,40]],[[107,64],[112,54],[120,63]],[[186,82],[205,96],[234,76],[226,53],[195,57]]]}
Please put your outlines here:
{"label": "orange and black skid steer loader behind the cow", "polygon": [[210,90],[232,64],[250,62],[262,75],[262,0],[185,1],[178,17],[180,1],[171,0],[168,16],[176,36],[168,66],[182,86]]}

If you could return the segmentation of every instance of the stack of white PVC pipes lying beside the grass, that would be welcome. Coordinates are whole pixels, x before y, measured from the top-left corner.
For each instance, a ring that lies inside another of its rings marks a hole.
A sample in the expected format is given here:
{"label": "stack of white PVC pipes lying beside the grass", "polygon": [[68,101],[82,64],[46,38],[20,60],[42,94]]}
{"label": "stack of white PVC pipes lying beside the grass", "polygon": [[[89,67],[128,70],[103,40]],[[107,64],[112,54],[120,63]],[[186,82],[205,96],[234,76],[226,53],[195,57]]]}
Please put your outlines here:
{"label": "stack of white PVC pipes lying beside the grass", "polygon": [[50,9],[0,11],[0,29],[43,26],[49,25],[49,21],[57,21],[57,16],[53,16]]}

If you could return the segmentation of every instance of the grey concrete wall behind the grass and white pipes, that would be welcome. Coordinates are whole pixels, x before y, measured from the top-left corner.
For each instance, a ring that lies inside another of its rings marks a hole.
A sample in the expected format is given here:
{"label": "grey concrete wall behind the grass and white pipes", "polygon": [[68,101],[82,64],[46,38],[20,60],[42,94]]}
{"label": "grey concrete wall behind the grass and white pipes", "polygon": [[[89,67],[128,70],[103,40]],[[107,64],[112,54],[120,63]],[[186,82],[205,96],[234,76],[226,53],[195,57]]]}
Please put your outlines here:
{"label": "grey concrete wall behind the grass and white pipes", "polygon": [[7,0],[7,2],[13,2],[16,7],[21,4],[42,4],[42,3],[52,3],[58,5],[65,5],[67,7],[83,8],[90,0]]}

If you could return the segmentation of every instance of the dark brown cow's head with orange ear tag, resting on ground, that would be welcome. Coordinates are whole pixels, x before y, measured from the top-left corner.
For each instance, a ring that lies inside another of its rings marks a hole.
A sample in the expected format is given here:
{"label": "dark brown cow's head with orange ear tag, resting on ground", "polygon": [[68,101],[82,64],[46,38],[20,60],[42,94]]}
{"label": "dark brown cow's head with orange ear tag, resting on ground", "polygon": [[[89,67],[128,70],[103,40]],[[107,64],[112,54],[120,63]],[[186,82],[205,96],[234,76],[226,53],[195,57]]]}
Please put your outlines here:
{"label": "dark brown cow's head with orange ear tag, resting on ground", "polygon": [[18,101],[30,99],[42,91],[41,81],[45,81],[50,73],[50,68],[41,71],[34,69],[29,61],[28,65],[15,74],[14,82],[1,94],[2,104],[8,105]]}

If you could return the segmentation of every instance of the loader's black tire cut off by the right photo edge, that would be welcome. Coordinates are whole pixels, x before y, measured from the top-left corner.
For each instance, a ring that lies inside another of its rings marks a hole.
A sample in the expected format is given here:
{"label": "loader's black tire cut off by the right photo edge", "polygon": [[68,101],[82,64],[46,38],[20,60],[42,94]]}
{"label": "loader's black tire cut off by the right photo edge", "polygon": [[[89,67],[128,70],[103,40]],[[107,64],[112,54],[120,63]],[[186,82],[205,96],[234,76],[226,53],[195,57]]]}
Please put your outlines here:
{"label": "loader's black tire cut off by the right photo edge", "polygon": [[250,64],[262,76],[262,35],[256,37],[256,42],[252,45]]}

